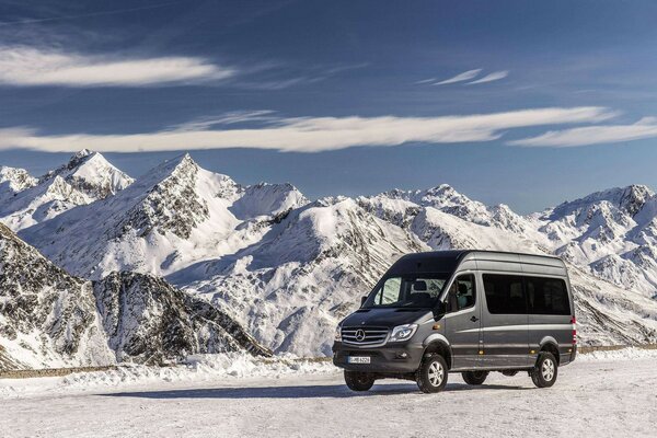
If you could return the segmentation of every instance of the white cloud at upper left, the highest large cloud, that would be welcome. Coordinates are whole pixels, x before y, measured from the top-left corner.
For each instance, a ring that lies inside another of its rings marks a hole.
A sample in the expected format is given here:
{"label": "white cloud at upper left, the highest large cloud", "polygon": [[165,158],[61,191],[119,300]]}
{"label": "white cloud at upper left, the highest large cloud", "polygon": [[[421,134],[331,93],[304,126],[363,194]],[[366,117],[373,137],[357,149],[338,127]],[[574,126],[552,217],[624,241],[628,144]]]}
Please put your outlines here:
{"label": "white cloud at upper left, the highest large cloud", "polygon": [[194,57],[118,58],[0,46],[0,84],[136,87],[222,80],[235,69]]}

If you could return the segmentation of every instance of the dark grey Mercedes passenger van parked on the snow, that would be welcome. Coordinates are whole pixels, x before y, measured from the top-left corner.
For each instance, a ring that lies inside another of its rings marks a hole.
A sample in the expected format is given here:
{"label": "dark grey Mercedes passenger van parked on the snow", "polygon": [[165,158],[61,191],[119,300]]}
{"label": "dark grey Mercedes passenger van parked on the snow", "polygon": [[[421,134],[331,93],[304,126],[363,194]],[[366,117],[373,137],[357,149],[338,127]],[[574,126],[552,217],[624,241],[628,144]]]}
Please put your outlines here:
{"label": "dark grey Mercedes passenger van parked on the snow", "polygon": [[468,384],[491,371],[527,371],[552,387],[575,360],[573,293],[561,258],[493,251],[401,257],[335,332],[333,364],[354,391],[414,380],[439,392],[448,373]]}

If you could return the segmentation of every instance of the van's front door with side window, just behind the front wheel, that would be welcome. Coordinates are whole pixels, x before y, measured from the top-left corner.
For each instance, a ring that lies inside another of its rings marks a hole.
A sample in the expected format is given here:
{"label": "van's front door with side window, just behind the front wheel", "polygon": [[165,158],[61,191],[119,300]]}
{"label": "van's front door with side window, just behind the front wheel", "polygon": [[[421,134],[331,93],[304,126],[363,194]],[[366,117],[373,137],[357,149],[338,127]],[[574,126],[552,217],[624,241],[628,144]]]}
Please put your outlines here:
{"label": "van's front door with side window, just behind the front wheel", "polygon": [[447,293],[445,336],[452,349],[452,369],[479,365],[481,306],[474,274],[460,274]]}

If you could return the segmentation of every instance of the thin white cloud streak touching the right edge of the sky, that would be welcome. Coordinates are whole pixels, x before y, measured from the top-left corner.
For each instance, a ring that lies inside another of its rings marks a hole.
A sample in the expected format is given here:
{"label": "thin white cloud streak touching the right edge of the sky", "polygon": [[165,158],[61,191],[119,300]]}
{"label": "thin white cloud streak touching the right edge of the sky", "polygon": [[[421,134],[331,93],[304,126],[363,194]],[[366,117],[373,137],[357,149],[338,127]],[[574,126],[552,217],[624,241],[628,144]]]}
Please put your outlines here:
{"label": "thin white cloud streak touching the right edge of the sky", "polygon": [[543,135],[509,141],[512,146],[568,148],[616,143],[657,137],[657,117],[644,117],[632,125],[586,126],[553,130]]}

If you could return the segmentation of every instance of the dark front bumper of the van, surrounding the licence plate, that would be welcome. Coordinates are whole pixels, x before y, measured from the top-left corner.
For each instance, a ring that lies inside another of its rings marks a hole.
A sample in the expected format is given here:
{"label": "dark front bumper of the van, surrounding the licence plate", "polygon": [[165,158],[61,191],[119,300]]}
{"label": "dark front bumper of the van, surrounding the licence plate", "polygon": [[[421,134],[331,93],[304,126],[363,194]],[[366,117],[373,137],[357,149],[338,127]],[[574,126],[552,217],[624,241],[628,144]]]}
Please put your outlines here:
{"label": "dark front bumper of the van, surrounding the licence plate", "polygon": [[[424,346],[415,343],[362,348],[336,342],[333,344],[333,365],[349,371],[406,373],[419,368],[423,354]],[[349,364],[349,356],[368,356],[370,364]]]}

